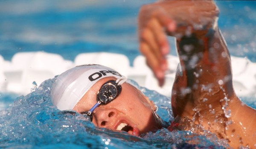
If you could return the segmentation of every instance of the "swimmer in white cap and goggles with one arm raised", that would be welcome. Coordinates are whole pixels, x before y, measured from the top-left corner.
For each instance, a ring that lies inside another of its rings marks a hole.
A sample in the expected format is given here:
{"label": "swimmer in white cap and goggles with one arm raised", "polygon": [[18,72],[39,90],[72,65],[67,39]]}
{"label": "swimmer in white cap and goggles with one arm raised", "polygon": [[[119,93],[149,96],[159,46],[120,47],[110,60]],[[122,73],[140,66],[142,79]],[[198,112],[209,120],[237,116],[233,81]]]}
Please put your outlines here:
{"label": "swimmer in white cap and goggles with one arm raised", "polygon": [[211,1],[159,1],[140,10],[140,50],[160,85],[167,70],[166,34],[177,39],[180,65],[172,89],[174,125],[166,126],[154,102],[129,80],[100,65],[77,66],[60,74],[52,86],[53,104],[89,117],[98,127],[131,135],[163,127],[189,130],[186,121],[190,121],[234,148],[254,147],[256,111],[233,90],[230,55],[217,19],[218,9]]}

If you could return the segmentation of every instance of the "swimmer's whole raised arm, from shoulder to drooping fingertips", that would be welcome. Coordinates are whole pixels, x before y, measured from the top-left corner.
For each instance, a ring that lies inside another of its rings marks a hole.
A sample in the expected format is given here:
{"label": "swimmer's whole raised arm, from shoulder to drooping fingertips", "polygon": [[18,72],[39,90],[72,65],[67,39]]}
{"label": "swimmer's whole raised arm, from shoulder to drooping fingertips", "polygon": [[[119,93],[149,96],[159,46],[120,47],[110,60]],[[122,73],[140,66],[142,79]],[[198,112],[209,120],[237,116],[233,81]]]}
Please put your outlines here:
{"label": "swimmer's whole raised arm, from shoulder to drooping fingertips", "polygon": [[169,52],[166,34],[175,36],[180,66],[172,89],[174,115],[193,120],[233,147],[255,147],[256,112],[242,104],[233,90],[230,54],[217,21],[218,8],[212,1],[143,6],[140,50],[161,85]]}

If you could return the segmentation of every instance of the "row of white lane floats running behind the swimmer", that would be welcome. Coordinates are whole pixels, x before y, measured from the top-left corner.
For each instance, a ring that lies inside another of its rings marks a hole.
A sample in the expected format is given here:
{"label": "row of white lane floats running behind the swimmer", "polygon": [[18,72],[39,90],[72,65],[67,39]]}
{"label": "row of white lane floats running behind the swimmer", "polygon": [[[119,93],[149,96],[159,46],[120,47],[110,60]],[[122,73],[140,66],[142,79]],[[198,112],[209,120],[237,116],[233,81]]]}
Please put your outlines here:
{"label": "row of white lane floats running behind the swimmer", "polygon": [[[256,97],[256,63],[241,57],[231,57],[231,59],[233,85],[237,95]],[[136,57],[133,62],[134,66],[131,67],[125,55],[106,52],[82,53],[77,55],[74,62],[64,60],[58,54],[45,52],[17,53],[12,57],[12,61],[5,61],[0,55],[0,91],[27,94],[33,87],[33,81],[39,85],[44,80],[73,66],[97,63],[116,69],[121,74],[135,80],[140,86],[170,96],[179,60],[172,55],[169,55],[167,60],[169,71],[166,74],[165,85],[160,88],[143,56]]]}

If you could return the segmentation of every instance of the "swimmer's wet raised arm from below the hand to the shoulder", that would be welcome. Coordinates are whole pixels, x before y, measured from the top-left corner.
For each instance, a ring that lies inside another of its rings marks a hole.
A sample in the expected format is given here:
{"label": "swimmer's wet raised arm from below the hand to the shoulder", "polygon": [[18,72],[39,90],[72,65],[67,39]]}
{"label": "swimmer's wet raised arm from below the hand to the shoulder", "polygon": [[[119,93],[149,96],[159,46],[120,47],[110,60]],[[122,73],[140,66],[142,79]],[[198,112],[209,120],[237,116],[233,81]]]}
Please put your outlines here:
{"label": "swimmer's wet raised arm from below the hand to the shoulder", "polygon": [[[194,48],[187,50],[187,45]],[[190,104],[180,107],[183,110],[178,115],[194,119],[220,138],[226,138],[232,146],[249,144],[252,147],[256,141],[256,112],[236,97],[230,54],[218,28],[205,36],[182,37],[177,40],[177,48],[183,79],[186,76],[183,88],[191,89],[191,93],[183,97]]]}

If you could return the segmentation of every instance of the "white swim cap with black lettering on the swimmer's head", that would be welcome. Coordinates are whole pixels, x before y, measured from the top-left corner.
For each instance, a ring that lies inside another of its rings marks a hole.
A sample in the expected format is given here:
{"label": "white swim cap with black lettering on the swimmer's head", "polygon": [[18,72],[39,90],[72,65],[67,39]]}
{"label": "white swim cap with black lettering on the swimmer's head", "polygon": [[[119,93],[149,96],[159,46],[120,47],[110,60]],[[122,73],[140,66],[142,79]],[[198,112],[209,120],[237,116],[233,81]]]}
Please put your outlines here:
{"label": "white swim cap with black lettering on the swimmer's head", "polygon": [[104,77],[122,77],[115,70],[101,65],[81,65],[63,72],[55,79],[51,97],[60,110],[71,110],[97,81]]}

